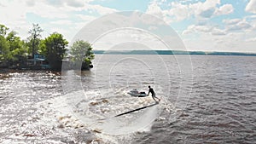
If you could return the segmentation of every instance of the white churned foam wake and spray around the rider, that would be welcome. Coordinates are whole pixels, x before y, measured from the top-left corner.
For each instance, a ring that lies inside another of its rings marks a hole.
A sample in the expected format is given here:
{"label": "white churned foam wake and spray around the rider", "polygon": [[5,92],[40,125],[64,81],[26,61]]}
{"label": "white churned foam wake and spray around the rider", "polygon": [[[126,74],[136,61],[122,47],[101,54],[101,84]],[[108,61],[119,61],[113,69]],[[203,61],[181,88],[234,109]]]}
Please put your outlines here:
{"label": "white churned foam wake and spray around the rider", "polygon": [[[42,120],[45,118],[45,121],[49,121],[49,118],[55,118],[58,127],[84,127],[96,132],[100,137],[104,135],[103,139],[117,143],[106,135],[127,135],[150,130],[166,102],[162,97],[159,105],[113,118],[120,113],[154,104],[154,101],[151,96],[125,95],[124,89],[104,89],[101,92],[80,90],[39,102],[38,108],[44,113]],[[107,119],[100,120],[102,118]]]}

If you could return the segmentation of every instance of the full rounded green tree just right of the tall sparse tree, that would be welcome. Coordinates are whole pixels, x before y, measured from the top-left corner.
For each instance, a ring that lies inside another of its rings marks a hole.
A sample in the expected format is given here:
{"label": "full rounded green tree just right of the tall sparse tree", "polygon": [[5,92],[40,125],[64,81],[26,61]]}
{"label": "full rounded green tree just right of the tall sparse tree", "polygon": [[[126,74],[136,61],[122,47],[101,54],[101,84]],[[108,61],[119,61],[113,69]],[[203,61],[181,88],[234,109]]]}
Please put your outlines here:
{"label": "full rounded green tree just right of the tall sparse tree", "polygon": [[49,61],[49,66],[55,70],[61,70],[64,56],[67,55],[67,40],[60,33],[54,32],[46,37],[40,44],[40,51]]}

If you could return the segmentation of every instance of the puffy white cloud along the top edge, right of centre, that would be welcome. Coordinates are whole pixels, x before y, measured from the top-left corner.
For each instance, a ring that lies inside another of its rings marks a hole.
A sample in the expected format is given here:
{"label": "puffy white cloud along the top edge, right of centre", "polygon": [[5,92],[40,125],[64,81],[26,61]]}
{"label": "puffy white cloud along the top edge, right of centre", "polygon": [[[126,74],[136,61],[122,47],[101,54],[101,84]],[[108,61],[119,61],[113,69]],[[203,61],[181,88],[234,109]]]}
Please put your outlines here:
{"label": "puffy white cloud along the top edge, right of centre", "polygon": [[160,3],[151,3],[148,9],[153,14],[162,15],[170,21],[180,21],[195,16],[197,20],[209,19],[214,16],[231,14],[234,12],[232,4],[221,5],[220,0],[206,0],[205,2],[184,3],[177,1],[170,3],[170,9],[161,9]]}

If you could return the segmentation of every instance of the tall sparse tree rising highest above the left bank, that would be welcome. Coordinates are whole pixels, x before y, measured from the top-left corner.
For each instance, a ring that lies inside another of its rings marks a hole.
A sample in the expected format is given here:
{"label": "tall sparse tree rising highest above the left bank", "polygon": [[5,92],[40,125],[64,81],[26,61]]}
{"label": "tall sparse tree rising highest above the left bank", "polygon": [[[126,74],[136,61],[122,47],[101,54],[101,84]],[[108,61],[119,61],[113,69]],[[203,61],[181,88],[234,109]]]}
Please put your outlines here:
{"label": "tall sparse tree rising highest above the left bank", "polygon": [[41,41],[41,32],[44,30],[38,24],[32,24],[32,29],[28,31],[30,36],[28,37],[28,45],[29,45],[29,53],[32,54],[32,58],[34,58],[34,54],[38,52],[39,43]]}

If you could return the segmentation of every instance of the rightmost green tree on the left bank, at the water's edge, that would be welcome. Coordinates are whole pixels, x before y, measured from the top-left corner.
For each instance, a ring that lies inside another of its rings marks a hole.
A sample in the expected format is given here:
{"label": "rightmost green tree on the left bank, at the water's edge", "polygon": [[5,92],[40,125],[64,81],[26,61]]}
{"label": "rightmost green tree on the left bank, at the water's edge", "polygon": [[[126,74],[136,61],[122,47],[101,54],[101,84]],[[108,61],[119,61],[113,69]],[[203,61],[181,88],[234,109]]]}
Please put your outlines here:
{"label": "rightmost green tree on the left bank, at the water's edge", "polygon": [[71,46],[72,61],[75,64],[82,63],[82,70],[90,69],[90,66],[92,66],[91,60],[94,59],[94,55],[91,50],[91,44],[88,42],[85,42],[83,40],[78,40],[74,42]]}

